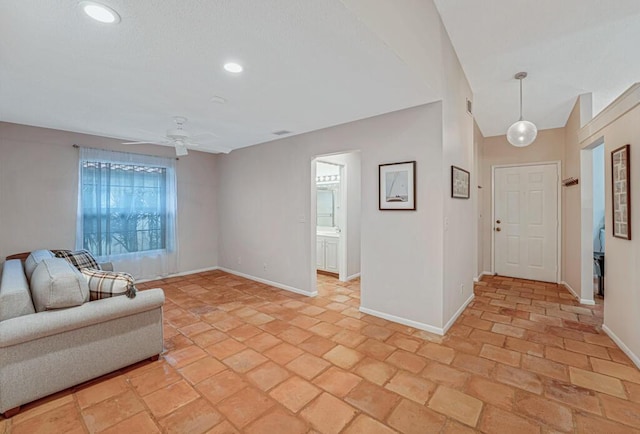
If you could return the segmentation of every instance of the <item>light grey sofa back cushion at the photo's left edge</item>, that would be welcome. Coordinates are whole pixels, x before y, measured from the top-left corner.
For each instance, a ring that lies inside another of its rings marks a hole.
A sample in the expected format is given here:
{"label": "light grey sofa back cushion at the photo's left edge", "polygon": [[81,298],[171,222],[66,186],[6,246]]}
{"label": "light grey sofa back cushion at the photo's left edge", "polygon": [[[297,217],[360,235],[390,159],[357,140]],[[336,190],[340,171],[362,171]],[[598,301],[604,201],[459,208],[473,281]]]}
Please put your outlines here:
{"label": "light grey sofa back cushion at the photo's left edge", "polygon": [[19,259],[6,261],[0,283],[0,321],[35,312],[22,262]]}

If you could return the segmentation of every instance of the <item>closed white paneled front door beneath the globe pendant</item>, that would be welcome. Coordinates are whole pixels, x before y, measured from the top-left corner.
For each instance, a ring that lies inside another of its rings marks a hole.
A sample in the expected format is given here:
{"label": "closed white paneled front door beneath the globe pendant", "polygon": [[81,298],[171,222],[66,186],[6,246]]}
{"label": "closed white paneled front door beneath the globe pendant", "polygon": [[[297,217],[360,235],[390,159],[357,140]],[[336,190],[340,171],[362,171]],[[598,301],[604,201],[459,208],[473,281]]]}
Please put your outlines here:
{"label": "closed white paneled front door beneath the globe pendant", "polygon": [[496,274],[558,281],[558,166],[494,169]]}

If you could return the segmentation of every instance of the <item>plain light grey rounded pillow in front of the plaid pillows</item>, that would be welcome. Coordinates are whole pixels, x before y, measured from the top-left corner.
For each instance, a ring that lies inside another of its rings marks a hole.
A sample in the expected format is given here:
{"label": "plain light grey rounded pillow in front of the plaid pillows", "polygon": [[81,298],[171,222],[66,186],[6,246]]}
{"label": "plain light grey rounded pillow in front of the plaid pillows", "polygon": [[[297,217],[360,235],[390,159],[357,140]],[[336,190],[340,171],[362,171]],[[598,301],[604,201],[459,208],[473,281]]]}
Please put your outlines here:
{"label": "plain light grey rounded pillow in front of the plaid pillows", "polygon": [[62,258],[42,260],[31,276],[31,296],[37,312],[80,306],[89,300],[87,280]]}

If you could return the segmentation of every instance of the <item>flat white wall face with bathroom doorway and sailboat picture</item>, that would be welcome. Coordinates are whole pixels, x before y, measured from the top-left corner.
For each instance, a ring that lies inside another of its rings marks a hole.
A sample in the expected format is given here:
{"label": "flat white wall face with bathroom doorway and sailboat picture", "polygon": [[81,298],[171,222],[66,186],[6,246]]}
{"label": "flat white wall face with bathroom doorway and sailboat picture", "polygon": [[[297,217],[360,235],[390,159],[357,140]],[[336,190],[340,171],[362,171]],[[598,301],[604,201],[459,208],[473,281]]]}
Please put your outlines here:
{"label": "flat white wall face with bathroom doorway and sailboat picture", "polygon": [[[313,292],[311,161],[359,150],[362,306],[440,324],[441,143],[442,105],[435,103],[221,156],[220,265]],[[417,211],[379,211],[378,165],[411,160],[417,161]]]}

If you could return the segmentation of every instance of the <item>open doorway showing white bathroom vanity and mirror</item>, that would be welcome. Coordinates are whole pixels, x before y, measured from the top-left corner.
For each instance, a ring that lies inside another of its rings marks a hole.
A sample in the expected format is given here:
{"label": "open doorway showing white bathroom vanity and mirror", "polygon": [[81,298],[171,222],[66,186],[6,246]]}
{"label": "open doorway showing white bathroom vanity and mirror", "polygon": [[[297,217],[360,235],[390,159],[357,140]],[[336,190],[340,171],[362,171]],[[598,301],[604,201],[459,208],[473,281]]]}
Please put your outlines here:
{"label": "open doorway showing white bathroom vanity and mirror", "polygon": [[311,162],[312,283],[317,273],[342,282],[360,277],[360,152]]}

